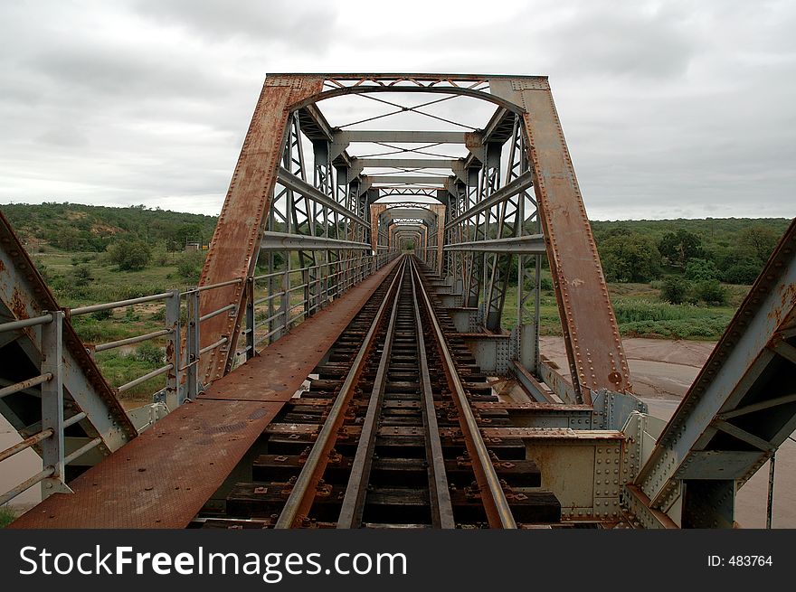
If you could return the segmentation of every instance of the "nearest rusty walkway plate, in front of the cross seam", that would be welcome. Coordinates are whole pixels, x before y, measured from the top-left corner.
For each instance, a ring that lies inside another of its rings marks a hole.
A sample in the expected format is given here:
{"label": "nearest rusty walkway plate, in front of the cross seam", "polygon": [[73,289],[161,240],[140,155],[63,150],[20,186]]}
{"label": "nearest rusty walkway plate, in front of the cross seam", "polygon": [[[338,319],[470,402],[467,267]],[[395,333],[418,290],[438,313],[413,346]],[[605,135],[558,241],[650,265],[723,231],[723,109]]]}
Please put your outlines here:
{"label": "nearest rusty walkway plate, in front of the cross seam", "polygon": [[[279,409],[214,400],[181,407],[72,481],[74,493],[50,496],[10,528],[185,527]],[[258,411],[266,414],[251,419]]]}

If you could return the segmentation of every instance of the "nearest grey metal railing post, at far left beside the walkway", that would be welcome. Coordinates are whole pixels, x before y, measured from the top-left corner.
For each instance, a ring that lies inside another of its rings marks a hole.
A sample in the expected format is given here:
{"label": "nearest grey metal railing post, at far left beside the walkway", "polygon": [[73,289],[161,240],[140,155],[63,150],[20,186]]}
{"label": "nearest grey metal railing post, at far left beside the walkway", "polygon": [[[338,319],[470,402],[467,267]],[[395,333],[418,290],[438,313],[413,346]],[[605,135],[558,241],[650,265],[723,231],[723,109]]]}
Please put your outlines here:
{"label": "nearest grey metal railing post, at far left beside the walkway", "polygon": [[42,440],[42,465],[52,475],[42,481],[42,497],[70,491],[65,485],[63,450],[63,311],[52,311],[52,321],[42,325],[42,374],[52,374],[42,383],[42,431],[52,436]]}

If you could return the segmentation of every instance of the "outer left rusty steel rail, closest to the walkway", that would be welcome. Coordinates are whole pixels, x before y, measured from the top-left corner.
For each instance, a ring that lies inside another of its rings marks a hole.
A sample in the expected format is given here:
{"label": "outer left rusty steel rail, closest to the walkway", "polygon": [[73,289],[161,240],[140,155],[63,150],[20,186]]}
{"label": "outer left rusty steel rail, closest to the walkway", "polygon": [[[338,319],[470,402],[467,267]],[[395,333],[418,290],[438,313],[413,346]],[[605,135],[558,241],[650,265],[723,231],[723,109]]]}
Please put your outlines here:
{"label": "outer left rusty steel rail, closest to the walkway", "polygon": [[[387,308],[387,303],[390,301],[390,296],[394,293],[394,288],[398,284],[398,278],[401,277],[402,270],[398,271],[390,287],[387,290],[387,295],[384,297],[382,304],[376,312],[373,323],[365,334],[365,340],[356,353],[354,362],[351,365],[351,370],[346,375],[346,381],[340,387],[337,393],[332,409],[329,410],[327,420],[321,428],[320,433],[317,435],[317,440],[309,451],[307,461],[301,468],[299,477],[296,483],[293,484],[293,489],[289,494],[288,501],[280,512],[280,516],[274,524],[275,529],[288,529],[296,526],[303,517],[306,517],[312,503],[315,500],[315,493],[317,484],[326,470],[329,452],[334,446],[336,440],[337,430],[343,423],[343,415],[348,402],[354,396],[354,387],[356,381],[363,371],[363,362],[367,354],[370,352],[375,342],[376,332],[378,327],[382,324],[384,312]],[[397,295],[396,295],[397,297]]]}

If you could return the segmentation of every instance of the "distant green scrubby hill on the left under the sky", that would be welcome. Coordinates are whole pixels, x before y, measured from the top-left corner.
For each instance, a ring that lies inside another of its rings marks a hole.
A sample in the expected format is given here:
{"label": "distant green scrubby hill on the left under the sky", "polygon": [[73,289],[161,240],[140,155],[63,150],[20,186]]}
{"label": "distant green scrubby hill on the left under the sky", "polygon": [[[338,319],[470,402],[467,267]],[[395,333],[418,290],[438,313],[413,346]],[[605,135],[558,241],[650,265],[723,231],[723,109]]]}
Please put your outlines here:
{"label": "distant green scrubby hill on the left under the sky", "polygon": [[180,211],[82,205],[80,203],[12,203],[0,205],[28,249],[52,247],[65,251],[104,251],[119,238],[163,244],[168,250],[185,249],[185,241],[208,243],[215,216]]}

